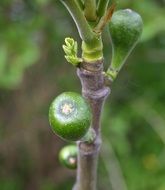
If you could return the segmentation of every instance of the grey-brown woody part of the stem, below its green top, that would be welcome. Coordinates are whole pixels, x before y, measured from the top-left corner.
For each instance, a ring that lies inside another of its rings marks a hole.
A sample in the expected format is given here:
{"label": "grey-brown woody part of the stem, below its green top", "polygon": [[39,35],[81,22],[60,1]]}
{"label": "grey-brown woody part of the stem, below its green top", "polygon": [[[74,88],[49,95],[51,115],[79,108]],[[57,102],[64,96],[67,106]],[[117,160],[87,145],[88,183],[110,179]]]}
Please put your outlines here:
{"label": "grey-brown woody part of the stem, below its green top", "polygon": [[103,60],[95,63],[83,62],[77,69],[82,85],[82,95],[89,102],[93,119],[91,127],[96,132],[94,142],[78,142],[77,181],[74,190],[97,189],[97,161],[101,146],[100,117],[106,97],[110,90],[104,84]]}

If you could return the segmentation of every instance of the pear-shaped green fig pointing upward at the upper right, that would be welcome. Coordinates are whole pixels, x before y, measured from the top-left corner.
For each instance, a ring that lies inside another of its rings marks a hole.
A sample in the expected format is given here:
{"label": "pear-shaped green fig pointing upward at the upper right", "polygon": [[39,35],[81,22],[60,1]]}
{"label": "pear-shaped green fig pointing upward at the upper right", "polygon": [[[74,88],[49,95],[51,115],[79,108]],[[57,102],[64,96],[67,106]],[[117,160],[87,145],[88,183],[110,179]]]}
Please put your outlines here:
{"label": "pear-shaped green fig pointing upward at the upper right", "polygon": [[109,23],[112,61],[108,73],[114,79],[142,33],[141,16],[131,9],[116,11]]}

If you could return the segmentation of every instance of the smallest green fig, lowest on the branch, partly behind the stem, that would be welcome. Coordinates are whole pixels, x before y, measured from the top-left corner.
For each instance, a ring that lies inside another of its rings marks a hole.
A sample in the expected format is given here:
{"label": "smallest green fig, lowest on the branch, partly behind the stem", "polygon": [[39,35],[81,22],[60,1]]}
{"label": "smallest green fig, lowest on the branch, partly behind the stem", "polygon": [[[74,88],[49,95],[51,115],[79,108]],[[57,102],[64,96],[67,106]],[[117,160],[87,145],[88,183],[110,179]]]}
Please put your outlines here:
{"label": "smallest green fig, lowest on the branch, partly behind the stem", "polygon": [[60,163],[69,168],[77,168],[77,147],[75,145],[68,145],[61,149],[59,153]]}

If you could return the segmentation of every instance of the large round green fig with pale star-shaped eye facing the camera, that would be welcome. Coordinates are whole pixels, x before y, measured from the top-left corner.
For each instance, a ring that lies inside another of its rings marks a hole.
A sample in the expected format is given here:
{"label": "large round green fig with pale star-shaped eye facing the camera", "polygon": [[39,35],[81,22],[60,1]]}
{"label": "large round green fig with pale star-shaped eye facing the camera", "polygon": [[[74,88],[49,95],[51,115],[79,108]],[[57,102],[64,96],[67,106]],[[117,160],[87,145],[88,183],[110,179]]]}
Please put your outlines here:
{"label": "large round green fig with pale star-shaped eye facing the camera", "polygon": [[52,102],[49,122],[58,136],[68,141],[77,141],[90,127],[91,110],[80,94],[64,92]]}

